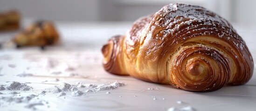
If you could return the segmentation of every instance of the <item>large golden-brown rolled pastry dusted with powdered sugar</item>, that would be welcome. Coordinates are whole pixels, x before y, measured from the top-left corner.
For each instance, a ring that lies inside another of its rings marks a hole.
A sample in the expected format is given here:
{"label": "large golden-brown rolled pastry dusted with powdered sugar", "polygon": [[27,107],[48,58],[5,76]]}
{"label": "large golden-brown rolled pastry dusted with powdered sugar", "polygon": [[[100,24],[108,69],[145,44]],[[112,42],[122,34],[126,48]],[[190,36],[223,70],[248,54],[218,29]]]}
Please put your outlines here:
{"label": "large golden-brown rolled pastry dusted with powdered sugar", "polygon": [[104,68],[112,74],[187,91],[242,85],[254,69],[249,49],[227,20],[187,4],[170,4],[138,19],[102,52]]}

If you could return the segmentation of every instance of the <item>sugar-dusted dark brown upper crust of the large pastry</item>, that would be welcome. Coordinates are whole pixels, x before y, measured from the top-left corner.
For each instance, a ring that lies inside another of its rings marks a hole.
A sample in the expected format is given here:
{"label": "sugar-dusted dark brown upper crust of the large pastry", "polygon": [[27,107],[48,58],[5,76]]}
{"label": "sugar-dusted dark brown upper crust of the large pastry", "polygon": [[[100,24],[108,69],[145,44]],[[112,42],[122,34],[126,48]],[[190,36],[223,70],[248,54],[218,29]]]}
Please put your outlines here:
{"label": "sugar-dusted dark brown upper crust of the large pastry", "polygon": [[[214,37],[236,47],[237,50],[245,49],[244,41],[227,20],[201,6],[176,3],[164,6],[155,14],[134,22],[125,37],[125,45],[128,44],[125,51],[130,54],[138,45],[145,50],[145,55],[148,56],[146,58],[153,58],[150,56],[166,54],[161,52],[163,48],[160,47],[175,47],[193,37]],[[217,41],[213,43],[219,44]]]}

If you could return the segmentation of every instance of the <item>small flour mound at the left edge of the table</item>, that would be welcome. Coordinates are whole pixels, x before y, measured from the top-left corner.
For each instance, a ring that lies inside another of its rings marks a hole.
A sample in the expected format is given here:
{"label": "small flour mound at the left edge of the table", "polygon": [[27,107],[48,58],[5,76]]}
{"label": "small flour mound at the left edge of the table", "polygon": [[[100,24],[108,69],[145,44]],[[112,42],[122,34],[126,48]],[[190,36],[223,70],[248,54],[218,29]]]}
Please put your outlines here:
{"label": "small flour mound at the left edge of the table", "polygon": [[8,90],[8,91],[14,91],[14,90],[18,90],[18,91],[29,91],[33,89],[32,86],[28,86],[25,83],[20,83],[20,82],[7,82],[6,84],[2,84],[0,85],[0,91],[4,91],[4,90]]}

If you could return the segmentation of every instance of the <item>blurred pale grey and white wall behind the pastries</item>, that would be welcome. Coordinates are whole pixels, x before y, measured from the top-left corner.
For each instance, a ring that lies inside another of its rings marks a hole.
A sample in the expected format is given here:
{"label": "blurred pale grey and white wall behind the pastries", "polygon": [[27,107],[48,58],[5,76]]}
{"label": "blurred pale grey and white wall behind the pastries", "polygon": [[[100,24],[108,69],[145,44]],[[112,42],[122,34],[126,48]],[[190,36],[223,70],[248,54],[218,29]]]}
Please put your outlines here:
{"label": "blurred pale grey and white wall behind the pastries", "polygon": [[0,0],[0,11],[53,21],[134,21],[162,6],[183,2],[206,7],[231,23],[256,25],[256,0]]}

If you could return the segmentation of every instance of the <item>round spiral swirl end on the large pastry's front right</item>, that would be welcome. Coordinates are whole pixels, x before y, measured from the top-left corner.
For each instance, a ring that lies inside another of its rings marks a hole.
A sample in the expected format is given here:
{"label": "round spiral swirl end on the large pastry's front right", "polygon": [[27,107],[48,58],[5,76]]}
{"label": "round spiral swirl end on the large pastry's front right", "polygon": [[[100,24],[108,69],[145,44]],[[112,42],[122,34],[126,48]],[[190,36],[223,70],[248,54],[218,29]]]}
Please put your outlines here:
{"label": "round spiral swirl end on the large pastry's front right", "polygon": [[[228,60],[218,50],[204,45],[180,49],[173,62],[168,63],[171,80],[189,91],[212,91],[227,85],[230,78]],[[168,60],[170,61],[170,60]],[[172,61],[172,60],[171,60]],[[175,79],[178,78],[178,79]]]}

